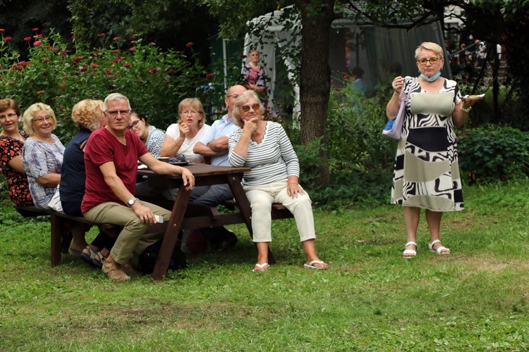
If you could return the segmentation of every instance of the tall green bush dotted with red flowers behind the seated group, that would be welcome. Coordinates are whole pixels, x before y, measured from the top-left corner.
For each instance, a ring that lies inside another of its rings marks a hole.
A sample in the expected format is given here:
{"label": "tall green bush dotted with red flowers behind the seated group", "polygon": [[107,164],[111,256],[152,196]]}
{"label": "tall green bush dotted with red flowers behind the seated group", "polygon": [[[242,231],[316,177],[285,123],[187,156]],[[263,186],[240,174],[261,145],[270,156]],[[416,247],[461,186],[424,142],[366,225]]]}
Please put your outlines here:
{"label": "tall green bush dotted with red flowers behind the seated group", "polygon": [[59,34],[35,35],[35,39],[28,37],[28,61],[18,61],[17,53],[2,41],[0,89],[22,111],[37,102],[51,106],[59,121],[54,133],[63,142],[75,134],[71,108],[83,99],[125,94],[133,109],[163,129],[176,121],[181,99],[197,96],[211,101],[211,92],[200,88],[207,87],[209,75],[195,58],[193,43],[185,52],[161,51],[142,39],[129,44],[116,39],[107,48],[91,51],[74,42],[75,50],[69,51],[70,43]]}

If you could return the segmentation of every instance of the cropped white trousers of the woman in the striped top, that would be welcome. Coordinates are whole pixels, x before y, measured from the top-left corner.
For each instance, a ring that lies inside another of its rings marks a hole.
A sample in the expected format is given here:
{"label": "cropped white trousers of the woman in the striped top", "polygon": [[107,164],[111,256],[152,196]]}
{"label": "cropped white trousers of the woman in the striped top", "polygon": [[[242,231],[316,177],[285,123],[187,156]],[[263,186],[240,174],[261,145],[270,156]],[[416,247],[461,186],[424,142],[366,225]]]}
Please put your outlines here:
{"label": "cropped white trousers of the woman in the striped top", "polygon": [[298,194],[292,199],[286,192],[287,181],[244,186],[252,208],[252,230],[254,242],[272,241],[272,203],[283,204],[294,215],[300,240],[315,239],[312,201],[308,194]]}

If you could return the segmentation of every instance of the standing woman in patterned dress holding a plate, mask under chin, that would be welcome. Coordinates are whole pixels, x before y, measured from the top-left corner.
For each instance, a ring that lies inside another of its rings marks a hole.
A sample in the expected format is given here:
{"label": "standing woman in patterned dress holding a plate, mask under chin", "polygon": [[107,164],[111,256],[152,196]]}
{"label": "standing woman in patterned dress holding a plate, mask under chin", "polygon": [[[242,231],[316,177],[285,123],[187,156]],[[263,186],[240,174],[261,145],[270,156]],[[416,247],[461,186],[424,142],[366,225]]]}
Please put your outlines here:
{"label": "standing woman in patterned dress holding a plate, mask under chin", "polygon": [[444,54],[441,46],[424,42],[415,50],[420,76],[395,77],[394,93],[386,115],[396,118],[400,95],[408,96],[406,117],[397,146],[391,203],[403,206],[408,240],[404,258],[417,255],[420,209],[425,208],[430,229],[430,251],[450,254],[439,240],[445,211],[463,210],[463,193],[454,125],[463,126],[478,100],[461,97],[458,84],[441,77]]}

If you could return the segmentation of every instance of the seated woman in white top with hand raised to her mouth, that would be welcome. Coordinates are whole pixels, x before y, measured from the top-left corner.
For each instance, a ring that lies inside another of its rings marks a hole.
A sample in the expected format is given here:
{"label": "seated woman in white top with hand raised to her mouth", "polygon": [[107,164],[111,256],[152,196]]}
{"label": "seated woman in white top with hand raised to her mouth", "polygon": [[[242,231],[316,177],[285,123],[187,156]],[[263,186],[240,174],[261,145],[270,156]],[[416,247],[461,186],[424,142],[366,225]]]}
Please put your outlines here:
{"label": "seated woman in white top with hand raised to her mouth", "polygon": [[193,153],[193,147],[209,130],[209,125],[205,124],[204,108],[197,98],[183,99],[178,104],[178,121],[167,127],[165,139],[160,156],[169,158],[185,157],[185,160],[192,163],[206,163],[203,156]]}

